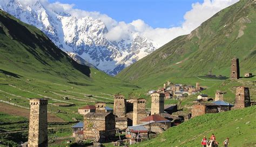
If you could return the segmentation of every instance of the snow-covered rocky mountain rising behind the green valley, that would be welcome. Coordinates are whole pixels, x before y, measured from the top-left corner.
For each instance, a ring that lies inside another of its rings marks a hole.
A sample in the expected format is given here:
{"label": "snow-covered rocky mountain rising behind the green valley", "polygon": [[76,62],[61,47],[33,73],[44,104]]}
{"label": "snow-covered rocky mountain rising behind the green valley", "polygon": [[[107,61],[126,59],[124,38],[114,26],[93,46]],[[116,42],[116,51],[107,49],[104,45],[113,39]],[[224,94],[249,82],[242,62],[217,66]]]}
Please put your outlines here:
{"label": "snow-covered rocky mountain rising behind the green valley", "polygon": [[154,42],[132,32],[129,39],[107,40],[107,27],[100,19],[76,18],[35,0],[22,3],[2,0],[0,9],[42,30],[60,49],[75,53],[100,70],[116,75],[128,65],[156,50]]}

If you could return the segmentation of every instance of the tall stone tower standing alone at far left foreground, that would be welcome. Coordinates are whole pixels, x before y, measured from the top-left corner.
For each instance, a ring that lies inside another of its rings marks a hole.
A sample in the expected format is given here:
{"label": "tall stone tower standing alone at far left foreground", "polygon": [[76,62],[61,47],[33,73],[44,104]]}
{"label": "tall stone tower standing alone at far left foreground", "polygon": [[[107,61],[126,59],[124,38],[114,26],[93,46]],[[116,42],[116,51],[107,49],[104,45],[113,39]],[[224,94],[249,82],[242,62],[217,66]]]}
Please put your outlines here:
{"label": "tall stone tower standing alone at far left foreground", "polygon": [[46,99],[31,99],[28,146],[48,146]]}

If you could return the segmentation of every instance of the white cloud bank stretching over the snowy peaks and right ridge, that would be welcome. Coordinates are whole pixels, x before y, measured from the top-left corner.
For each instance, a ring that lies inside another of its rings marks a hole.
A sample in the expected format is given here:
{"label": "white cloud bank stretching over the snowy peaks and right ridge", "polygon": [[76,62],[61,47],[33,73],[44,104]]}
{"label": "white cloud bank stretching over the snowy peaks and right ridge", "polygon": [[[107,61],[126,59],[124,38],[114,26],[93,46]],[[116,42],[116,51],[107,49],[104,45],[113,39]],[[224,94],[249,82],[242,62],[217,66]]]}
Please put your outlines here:
{"label": "white cloud bank stretching over the snowy peaks and right ridge", "polygon": [[[18,0],[23,3],[35,3],[34,0]],[[79,9],[73,9],[74,4],[62,4],[59,2],[49,3],[48,0],[39,0],[41,3],[56,12],[68,12],[71,16],[82,18],[92,17],[94,19],[100,19],[104,22],[109,32],[106,34],[106,38],[111,41],[120,39],[129,39],[132,36],[132,32],[139,33],[150,39],[158,45],[163,46],[165,43],[171,41],[179,35],[189,34],[192,30],[197,28],[208,18],[212,17],[215,13],[221,9],[230,6],[239,0],[204,0],[203,3],[192,4],[192,9],[185,13],[184,22],[179,27],[170,28],[152,28],[145,24],[141,19],[133,20],[131,23],[117,22],[106,14],[100,12],[88,12]]]}

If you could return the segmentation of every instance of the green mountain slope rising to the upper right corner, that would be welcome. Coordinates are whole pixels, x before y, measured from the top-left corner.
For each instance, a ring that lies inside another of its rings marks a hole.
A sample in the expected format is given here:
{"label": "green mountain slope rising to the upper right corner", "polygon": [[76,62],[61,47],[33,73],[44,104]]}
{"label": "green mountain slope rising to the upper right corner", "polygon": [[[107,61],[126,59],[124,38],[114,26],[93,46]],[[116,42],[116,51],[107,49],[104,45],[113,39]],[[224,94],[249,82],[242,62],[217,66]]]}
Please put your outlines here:
{"label": "green mountain slope rising to the upper right corner", "polygon": [[168,77],[212,71],[229,77],[231,58],[240,58],[241,76],[256,72],[256,4],[242,0],[221,10],[189,35],[179,36],[121,71],[116,77],[147,85]]}

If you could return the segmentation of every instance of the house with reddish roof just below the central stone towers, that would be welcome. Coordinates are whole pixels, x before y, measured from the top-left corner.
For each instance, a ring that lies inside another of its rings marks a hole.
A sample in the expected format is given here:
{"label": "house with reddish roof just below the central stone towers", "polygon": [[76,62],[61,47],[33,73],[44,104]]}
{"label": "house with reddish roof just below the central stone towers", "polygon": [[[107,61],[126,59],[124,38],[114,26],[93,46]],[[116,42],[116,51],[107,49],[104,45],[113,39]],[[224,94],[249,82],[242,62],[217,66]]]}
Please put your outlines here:
{"label": "house with reddish roof just below the central stone towers", "polygon": [[157,114],[147,116],[140,121],[143,123],[139,124],[139,126],[144,126],[150,131],[150,133],[154,134],[163,133],[163,131],[171,127],[170,120],[167,120],[164,117],[161,117]]}

